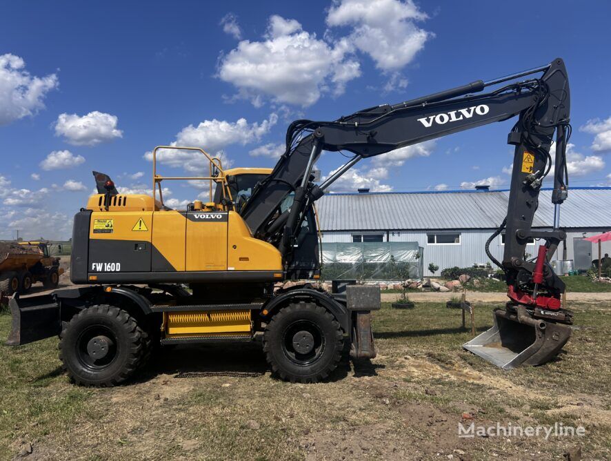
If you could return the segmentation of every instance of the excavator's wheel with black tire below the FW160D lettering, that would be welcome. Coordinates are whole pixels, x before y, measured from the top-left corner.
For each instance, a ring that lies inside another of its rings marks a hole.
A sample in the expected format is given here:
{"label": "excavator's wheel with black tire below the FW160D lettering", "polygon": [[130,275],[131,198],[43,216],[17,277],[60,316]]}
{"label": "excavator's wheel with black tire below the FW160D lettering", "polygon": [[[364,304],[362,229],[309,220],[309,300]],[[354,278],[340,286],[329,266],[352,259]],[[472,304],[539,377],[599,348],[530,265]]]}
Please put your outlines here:
{"label": "excavator's wheel with black tire below the FW160D lettering", "polygon": [[143,335],[126,311],[107,304],[91,306],[74,315],[61,332],[59,359],[77,384],[115,386],[141,365]]}

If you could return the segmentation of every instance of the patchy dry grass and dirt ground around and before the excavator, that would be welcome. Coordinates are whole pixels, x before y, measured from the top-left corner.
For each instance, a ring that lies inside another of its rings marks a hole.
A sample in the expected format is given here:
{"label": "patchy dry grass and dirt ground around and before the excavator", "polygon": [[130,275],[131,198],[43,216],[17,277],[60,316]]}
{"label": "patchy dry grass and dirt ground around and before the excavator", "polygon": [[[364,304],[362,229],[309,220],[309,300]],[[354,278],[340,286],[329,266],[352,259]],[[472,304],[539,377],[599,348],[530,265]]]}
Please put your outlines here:
{"label": "patchy dry grass and dirt ground around and before the excavator", "polygon": [[[571,303],[572,304],[572,303]],[[571,305],[565,351],[501,371],[461,348],[459,311],[374,314],[378,356],[345,351],[330,381],[270,376],[258,342],[175,347],[113,389],[70,384],[57,340],[0,346],[0,458],[247,460],[610,459],[611,303]],[[491,324],[476,304],[477,331]],[[10,315],[0,315],[6,338]],[[459,438],[468,426],[583,425],[585,436]],[[19,455],[21,453],[21,455]]]}

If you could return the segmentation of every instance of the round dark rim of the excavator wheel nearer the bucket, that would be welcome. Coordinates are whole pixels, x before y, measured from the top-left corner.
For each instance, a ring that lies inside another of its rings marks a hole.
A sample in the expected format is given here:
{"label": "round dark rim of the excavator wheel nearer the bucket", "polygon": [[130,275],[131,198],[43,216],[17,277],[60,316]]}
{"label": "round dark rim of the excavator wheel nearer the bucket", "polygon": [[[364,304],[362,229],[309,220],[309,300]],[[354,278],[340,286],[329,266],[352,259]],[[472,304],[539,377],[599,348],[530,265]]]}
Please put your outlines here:
{"label": "round dark rim of the excavator wheel nearer the bucket", "polygon": [[282,351],[288,360],[294,364],[310,365],[323,355],[325,336],[314,322],[297,320],[284,331]]}

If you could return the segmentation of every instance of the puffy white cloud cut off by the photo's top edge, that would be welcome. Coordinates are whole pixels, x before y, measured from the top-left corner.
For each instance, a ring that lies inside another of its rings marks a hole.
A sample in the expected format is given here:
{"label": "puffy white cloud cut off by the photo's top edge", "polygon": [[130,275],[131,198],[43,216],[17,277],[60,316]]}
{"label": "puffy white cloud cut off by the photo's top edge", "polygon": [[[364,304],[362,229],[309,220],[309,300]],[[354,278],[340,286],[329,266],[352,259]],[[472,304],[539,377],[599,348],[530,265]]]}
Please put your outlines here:
{"label": "puffy white cloud cut off by the photo's top edge", "polygon": [[350,26],[353,46],[383,72],[397,72],[434,37],[416,26],[427,18],[412,0],[334,0],[326,21],[328,26]]}

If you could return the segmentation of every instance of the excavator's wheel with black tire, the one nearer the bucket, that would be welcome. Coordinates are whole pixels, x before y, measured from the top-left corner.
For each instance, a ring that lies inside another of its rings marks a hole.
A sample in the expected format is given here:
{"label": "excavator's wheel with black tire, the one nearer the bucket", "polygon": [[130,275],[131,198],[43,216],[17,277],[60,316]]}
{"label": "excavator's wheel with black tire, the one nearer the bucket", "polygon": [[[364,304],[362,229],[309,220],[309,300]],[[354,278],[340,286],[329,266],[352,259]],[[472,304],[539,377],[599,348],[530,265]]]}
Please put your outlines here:
{"label": "excavator's wheel with black tire, the one nearer the bucket", "polygon": [[263,334],[263,352],[272,373],[290,382],[324,380],[337,367],[342,349],[339,323],[313,303],[281,308]]}

